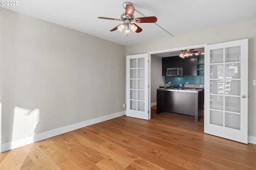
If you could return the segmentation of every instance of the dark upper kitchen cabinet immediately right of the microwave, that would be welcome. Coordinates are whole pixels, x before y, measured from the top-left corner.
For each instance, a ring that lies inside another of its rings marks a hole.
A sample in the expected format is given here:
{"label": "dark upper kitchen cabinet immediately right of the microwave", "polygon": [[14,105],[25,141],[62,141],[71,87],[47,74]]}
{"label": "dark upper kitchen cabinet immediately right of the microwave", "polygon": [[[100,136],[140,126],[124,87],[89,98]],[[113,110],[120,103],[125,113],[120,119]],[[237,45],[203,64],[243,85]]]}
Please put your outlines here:
{"label": "dark upper kitchen cabinet immediately right of the microwave", "polygon": [[192,55],[183,59],[183,76],[197,76],[196,55]]}

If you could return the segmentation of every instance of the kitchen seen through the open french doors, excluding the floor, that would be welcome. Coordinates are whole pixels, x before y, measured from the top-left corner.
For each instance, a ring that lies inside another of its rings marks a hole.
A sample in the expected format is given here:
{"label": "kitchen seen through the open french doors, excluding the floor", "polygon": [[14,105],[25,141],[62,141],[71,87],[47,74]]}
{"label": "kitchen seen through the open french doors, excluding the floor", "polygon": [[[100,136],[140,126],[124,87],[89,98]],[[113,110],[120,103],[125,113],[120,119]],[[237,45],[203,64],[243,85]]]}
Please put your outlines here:
{"label": "kitchen seen through the open french doors, excluding the floor", "polygon": [[151,106],[158,114],[192,115],[198,121],[204,114],[204,48],[156,54],[151,60]]}

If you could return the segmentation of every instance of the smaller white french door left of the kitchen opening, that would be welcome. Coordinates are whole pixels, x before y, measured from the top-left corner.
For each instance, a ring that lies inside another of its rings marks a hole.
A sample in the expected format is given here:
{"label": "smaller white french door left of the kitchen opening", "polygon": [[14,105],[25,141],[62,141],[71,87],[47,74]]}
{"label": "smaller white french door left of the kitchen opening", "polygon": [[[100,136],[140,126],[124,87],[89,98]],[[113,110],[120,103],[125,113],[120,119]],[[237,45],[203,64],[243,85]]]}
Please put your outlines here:
{"label": "smaller white french door left of the kitchen opening", "polygon": [[126,57],[126,116],[150,119],[148,54]]}

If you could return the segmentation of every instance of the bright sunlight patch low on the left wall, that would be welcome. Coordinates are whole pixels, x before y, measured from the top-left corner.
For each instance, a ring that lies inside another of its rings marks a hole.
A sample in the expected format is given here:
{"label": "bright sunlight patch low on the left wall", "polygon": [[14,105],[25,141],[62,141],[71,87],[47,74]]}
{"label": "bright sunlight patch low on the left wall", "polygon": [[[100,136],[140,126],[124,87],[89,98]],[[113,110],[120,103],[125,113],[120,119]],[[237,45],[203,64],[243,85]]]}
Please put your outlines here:
{"label": "bright sunlight patch low on the left wall", "polygon": [[14,117],[12,125],[12,141],[35,135],[35,130],[39,122],[39,109],[25,109],[14,107]]}

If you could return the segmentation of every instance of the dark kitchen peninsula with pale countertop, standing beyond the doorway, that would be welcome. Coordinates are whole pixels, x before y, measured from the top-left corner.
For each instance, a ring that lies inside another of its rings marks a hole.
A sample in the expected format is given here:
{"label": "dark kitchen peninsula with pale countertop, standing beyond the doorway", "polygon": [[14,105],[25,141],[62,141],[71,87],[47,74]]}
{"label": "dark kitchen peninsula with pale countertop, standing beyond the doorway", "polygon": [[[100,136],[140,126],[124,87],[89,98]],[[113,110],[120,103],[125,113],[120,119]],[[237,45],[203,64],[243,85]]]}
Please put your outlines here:
{"label": "dark kitchen peninsula with pale countertop, standing beyond the doorway", "polygon": [[198,121],[204,111],[204,90],[196,88],[158,88],[157,110],[195,116]]}

